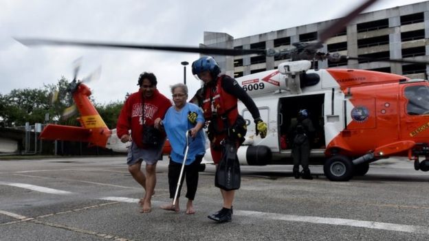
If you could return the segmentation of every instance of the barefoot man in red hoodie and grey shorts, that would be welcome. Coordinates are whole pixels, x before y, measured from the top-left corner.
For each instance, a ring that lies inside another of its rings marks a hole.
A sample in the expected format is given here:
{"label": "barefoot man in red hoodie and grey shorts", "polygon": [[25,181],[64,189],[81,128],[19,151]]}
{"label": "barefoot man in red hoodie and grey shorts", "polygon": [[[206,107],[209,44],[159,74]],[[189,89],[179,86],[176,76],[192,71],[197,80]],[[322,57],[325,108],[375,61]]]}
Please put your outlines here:
{"label": "barefoot man in red hoodie and grey shorts", "polygon": [[[156,163],[166,139],[165,134],[157,129],[171,102],[156,89],[157,79],[153,73],[140,74],[137,85],[140,86],[139,91],[130,95],[122,107],[116,131],[123,143],[131,141],[126,163],[135,181],[145,190],[139,203],[141,212],[148,213],[156,184]],[[146,161],[146,176],[140,169],[142,161]]]}

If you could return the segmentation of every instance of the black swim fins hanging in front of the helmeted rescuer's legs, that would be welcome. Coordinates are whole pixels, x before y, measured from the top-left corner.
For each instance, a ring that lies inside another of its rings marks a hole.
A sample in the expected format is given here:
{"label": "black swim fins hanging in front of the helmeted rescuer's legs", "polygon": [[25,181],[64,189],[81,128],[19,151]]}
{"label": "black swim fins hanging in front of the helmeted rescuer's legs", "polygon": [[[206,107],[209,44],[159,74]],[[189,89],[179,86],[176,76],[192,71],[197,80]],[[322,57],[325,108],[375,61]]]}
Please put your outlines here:
{"label": "black swim fins hanging in front of the helmeted rescuer's legs", "polygon": [[222,148],[222,159],[216,168],[214,186],[225,191],[237,190],[240,188],[241,172],[235,141],[225,139]]}

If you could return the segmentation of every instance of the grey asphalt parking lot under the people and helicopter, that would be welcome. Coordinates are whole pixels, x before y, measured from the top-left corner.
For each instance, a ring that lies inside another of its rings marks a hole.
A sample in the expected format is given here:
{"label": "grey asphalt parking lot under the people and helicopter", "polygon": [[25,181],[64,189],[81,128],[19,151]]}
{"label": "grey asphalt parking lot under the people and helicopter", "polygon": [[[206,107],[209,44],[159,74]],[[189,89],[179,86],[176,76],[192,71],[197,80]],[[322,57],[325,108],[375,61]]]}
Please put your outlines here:
{"label": "grey asphalt parking lot under the people and helicopter", "polygon": [[[141,214],[142,188],[124,157],[0,161],[0,240],[428,240],[429,173],[384,160],[366,176],[328,181],[292,177],[292,166],[242,167],[232,222],[221,208],[214,166],[200,174],[197,213],[176,214],[167,161],[159,161],[153,210]],[[182,193],[186,190],[183,188]]]}

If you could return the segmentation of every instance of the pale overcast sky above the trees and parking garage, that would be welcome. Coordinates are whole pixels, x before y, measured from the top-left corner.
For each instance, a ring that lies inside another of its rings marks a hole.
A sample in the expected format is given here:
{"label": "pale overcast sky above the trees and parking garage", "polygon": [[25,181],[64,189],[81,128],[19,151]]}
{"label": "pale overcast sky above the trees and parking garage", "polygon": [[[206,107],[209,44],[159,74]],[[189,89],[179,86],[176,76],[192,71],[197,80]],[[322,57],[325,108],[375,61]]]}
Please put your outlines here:
{"label": "pale overcast sky above the trees and parking garage", "polygon": [[[98,66],[101,77],[88,86],[96,102],[124,100],[137,91],[137,78],[151,71],[158,89],[170,97],[169,86],[183,81],[181,61],[198,54],[83,47],[25,47],[12,37],[63,38],[153,45],[198,47],[203,32],[226,32],[241,38],[287,27],[335,19],[362,0],[0,0],[0,93],[56,84],[73,78],[72,62],[83,57],[79,77]],[[379,0],[371,10],[393,8],[418,0]],[[187,68],[192,96],[199,82]]]}

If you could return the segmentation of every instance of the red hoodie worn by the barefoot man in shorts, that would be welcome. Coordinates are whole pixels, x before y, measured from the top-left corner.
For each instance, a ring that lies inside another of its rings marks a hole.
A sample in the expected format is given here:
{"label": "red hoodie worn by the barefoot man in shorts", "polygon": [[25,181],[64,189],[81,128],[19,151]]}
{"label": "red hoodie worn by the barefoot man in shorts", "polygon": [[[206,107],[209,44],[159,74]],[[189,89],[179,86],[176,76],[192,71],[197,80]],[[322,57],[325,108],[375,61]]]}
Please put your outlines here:
{"label": "red hoodie worn by the barefoot man in shorts", "polygon": [[[118,117],[118,124],[116,124],[116,135],[120,138],[122,135],[128,134],[131,129],[131,137],[139,148],[144,148],[142,143],[142,96],[140,89],[126,99]],[[146,125],[153,126],[153,122],[158,117],[164,119],[164,115],[170,106],[170,100],[155,89],[151,97],[144,98],[144,121]]]}

